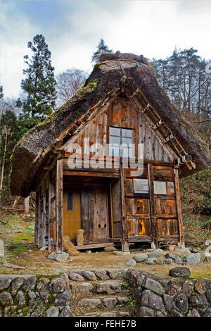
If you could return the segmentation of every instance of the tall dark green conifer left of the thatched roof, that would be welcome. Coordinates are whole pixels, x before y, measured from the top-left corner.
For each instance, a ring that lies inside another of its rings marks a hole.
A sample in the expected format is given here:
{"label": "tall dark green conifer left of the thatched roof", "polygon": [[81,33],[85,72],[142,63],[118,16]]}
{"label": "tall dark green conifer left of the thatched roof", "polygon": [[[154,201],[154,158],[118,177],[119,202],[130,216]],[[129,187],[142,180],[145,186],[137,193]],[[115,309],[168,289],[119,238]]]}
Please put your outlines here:
{"label": "tall dark green conifer left of the thatched roof", "polygon": [[17,106],[23,108],[22,118],[28,121],[27,127],[30,128],[52,113],[56,104],[56,80],[45,38],[36,35],[32,42],[28,42],[28,48],[33,55],[32,58],[24,56],[28,67],[23,74],[27,77],[21,82],[26,99],[19,98]]}

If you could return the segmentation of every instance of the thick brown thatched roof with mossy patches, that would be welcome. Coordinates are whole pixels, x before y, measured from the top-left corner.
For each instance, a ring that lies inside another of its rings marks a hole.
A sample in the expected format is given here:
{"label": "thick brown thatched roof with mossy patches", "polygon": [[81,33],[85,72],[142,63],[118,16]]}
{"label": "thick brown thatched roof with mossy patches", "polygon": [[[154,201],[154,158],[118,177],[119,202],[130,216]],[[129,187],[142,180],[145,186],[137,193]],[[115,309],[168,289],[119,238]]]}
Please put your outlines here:
{"label": "thick brown thatched roof with mossy patches", "polygon": [[136,108],[145,108],[144,115],[151,125],[158,123],[160,118],[167,125],[163,132],[162,125],[158,127],[158,132],[160,130],[163,139],[167,140],[173,135],[174,139],[167,144],[174,154],[178,157],[184,154],[193,156],[193,162],[188,167],[182,165],[182,177],[210,166],[206,144],[170,103],[158,85],[154,68],[146,58],[117,52],[103,54],[100,61],[84,87],[44,123],[27,132],[15,146],[11,173],[12,194],[30,194],[36,185],[39,171],[46,164],[52,150],[62,148],[71,137],[71,130],[77,120],[82,120],[90,109],[102,106],[111,96],[121,95],[122,91],[124,95],[130,96]]}

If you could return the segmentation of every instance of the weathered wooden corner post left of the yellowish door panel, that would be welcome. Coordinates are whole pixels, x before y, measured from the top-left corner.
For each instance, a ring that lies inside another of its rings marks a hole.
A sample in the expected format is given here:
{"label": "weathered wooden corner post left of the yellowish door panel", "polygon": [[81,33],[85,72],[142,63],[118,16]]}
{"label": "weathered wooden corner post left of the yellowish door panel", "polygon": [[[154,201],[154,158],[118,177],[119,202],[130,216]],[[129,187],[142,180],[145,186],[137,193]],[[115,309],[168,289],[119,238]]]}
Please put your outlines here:
{"label": "weathered wooden corner post left of the yellowish door panel", "polygon": [[56,253],[63,252],[63,160],[56,163]]}

